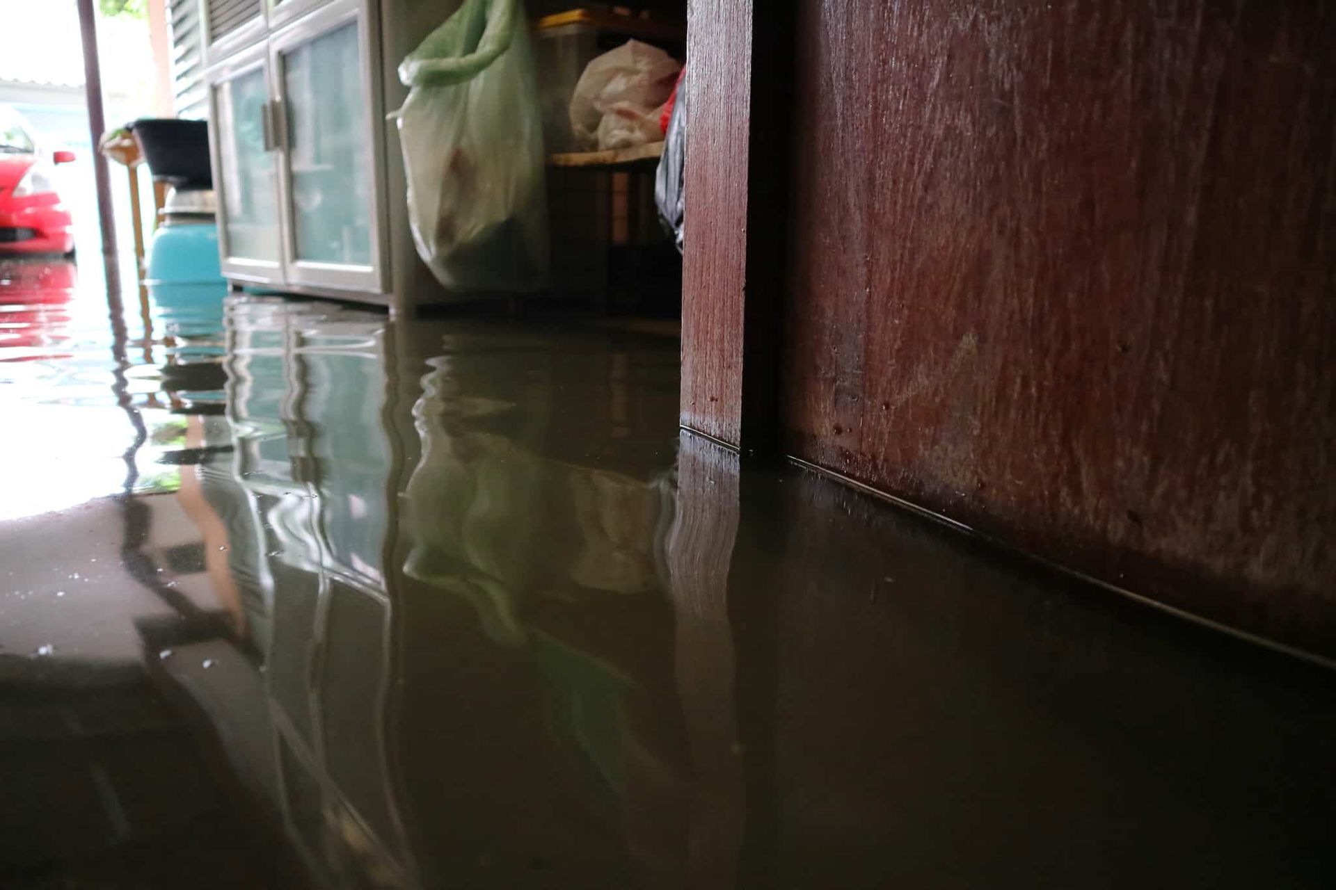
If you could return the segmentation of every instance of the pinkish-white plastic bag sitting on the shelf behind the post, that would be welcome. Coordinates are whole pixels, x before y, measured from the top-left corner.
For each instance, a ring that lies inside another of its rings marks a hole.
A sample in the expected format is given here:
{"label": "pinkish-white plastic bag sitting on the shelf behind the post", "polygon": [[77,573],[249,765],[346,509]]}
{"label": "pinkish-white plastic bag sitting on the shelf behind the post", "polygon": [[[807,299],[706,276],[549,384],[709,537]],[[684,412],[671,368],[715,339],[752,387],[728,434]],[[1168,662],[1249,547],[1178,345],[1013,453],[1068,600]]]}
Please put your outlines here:
{"label": "pinkish-white plastic bag sitting on the shelf behind the post", "polygon": [[570,96],[570,128],[585,148],[656,143],[659,108],[681,65],[657,47],[628,40],[591,61]]}

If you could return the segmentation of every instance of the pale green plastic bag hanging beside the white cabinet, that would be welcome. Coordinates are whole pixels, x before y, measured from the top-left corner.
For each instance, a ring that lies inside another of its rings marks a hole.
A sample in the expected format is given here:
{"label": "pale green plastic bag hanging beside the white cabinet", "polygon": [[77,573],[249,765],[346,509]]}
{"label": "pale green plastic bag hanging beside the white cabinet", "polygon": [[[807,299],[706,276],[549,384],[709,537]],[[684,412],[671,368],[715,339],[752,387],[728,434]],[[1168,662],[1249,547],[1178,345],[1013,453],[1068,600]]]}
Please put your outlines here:
{"label": "pale green plastic bag hanging beside the white cabinet", "polygon": [[520,0],[465,0],[399,65],[413,242],[454,291],[546,283],[542,119]]}

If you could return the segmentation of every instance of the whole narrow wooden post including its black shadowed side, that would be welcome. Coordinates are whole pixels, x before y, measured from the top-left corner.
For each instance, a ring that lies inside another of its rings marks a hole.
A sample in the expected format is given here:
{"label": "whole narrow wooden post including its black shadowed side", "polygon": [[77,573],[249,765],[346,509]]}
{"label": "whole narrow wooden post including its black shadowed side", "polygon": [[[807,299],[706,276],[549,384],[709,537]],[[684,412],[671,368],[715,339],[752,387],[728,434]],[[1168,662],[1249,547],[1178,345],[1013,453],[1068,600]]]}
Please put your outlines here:
{"label": "whole narrow wooden post including its black shadowed side", "polygon": [[688,0],[681,423],[778,447],[792,0]]}

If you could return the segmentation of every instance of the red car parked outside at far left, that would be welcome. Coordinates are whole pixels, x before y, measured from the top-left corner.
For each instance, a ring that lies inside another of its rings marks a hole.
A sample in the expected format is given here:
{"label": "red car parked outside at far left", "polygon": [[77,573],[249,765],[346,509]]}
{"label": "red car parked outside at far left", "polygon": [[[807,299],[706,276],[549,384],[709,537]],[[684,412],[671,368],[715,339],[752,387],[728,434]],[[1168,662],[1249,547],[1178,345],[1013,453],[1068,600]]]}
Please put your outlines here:
{"label": "red car parked outside at far left", "polygon": [[69,211],[56,193],[55,165],[73,152],[47,156],[19,112],[0,105],[0,254],[73,254]]}

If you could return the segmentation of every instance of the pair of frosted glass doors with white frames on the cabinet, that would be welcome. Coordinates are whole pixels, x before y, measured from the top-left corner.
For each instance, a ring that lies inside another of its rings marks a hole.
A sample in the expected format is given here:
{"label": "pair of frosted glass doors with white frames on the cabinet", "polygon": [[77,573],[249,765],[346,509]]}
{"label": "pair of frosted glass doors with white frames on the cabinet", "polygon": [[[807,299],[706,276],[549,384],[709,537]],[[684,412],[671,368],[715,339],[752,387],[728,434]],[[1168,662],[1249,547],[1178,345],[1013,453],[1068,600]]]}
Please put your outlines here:
{"label": "pair of frosted glass doors with white frames on the cabinet", "polygon": [[210,68],[230,280],[386,302],[377,11],[373,0],[267,0],[263,35]]}

